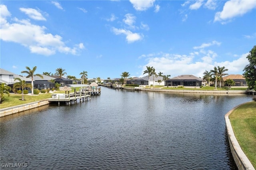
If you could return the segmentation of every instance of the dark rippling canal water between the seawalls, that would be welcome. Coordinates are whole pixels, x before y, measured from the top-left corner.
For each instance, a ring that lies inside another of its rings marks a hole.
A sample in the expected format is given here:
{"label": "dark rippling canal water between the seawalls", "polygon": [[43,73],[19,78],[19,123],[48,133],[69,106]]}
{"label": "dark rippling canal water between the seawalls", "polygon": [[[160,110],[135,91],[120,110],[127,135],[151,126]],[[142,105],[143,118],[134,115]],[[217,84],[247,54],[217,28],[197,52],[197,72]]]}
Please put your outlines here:
{"label": "dark rippling canal water between the seawalls", "polygon": [[101,93],[1,118],[1,169],[237,169],[224,115],[252,96]]}

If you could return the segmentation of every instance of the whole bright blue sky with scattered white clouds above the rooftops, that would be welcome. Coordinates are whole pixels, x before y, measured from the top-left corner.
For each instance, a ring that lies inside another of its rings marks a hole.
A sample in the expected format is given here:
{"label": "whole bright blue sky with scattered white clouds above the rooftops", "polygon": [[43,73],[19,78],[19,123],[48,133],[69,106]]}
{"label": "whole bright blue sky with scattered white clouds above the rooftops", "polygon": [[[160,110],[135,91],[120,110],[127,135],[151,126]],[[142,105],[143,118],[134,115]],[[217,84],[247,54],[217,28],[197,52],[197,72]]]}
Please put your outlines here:
{"label": "whole bright blue sky with scattered white clouds above the rooftops", "polygon": [[256,45],[255,0],[2,0],[0,10],[0,67],[16,74],[242,74]]}

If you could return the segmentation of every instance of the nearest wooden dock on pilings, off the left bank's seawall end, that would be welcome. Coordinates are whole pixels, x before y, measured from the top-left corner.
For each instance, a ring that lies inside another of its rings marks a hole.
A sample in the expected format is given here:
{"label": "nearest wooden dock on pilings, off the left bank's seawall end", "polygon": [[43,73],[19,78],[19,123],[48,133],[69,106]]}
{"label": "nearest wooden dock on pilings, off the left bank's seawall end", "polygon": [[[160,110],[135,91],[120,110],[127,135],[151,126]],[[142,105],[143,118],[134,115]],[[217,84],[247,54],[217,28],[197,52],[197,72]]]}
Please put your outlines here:
{"label": "nearest wooden dock on pilings, off the left bank's seawall end", "polygon": [[79,99],[79,101],[85,101],[88,100],[88,98],[91,98],[91,95],[89,93],[89,91],[87,91],[86,93],[81,92],[81,91],[77,91],[76,93],[69,93],[69,94],[52,94],[52,98],[48,99],[49,102],[58,102],[58,105],[60,105],[60,102],[62,103],[68,103],[68,105],[70,105],[72,103],[72,101],[74,101],[74,103],[77,102],[77,100]]}

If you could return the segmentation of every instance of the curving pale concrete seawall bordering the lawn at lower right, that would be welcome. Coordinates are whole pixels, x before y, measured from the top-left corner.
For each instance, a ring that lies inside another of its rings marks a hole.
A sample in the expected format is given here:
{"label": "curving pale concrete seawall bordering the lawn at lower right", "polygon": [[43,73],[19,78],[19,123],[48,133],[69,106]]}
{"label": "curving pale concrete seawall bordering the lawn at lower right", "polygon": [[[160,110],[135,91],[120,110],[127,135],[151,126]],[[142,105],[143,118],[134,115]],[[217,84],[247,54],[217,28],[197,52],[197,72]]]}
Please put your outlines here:
{"label": "curving pale concrete seawall bordering the lawn at lower right", "polygon": [[[243,104],[241,104],[241,105],[243,105]],[[234,111],[236,108],[238,108],[241,105],[234,107],[232,110],[230,110],[225,115],[226,129],[227,129],[227,133],[228,133],[228,141],[229,141],[229,145],[230,145],[230,150],[232,152],[233,158],[236,162],[236,166],[238,167],[238,169],[239,170],[255,170],[254,167],[252,166],[252,163],[247,158],[247,156],[244,154],[242,148],[240,147],[238,141],[236,140],[236,136],[234,134],[233,128],[232,128],[230,120],[229,120],[229,115],[232,113],[232,111]]]}

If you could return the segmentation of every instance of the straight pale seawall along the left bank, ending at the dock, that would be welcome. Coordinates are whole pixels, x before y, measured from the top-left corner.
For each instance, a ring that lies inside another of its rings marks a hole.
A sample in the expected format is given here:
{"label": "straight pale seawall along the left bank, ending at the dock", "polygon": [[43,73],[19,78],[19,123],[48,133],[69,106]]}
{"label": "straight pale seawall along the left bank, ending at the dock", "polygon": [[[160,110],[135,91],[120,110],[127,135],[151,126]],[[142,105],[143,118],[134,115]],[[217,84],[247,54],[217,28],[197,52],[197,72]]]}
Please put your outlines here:
{"label": "straight pale seawall along the left bank, ending at the dock", "polygon": [[0,117],[4,117],[4,116],[7,116],[7,115],[12,115],[14,113],[19,113],[21,111],[26,111],[26,110],[29,110],[29,109],[33,109],[33,108],[40,107],[40,106],[43,106],[43,105],[48,105],[48,104],[49,104],[48,99],[45,99],[45,100],[36,101],[36,102],[32,102],[32,103],[26,103],[26,104],[23,104],[23,105],[7,107],[7,108],[4,108],[4,109],[0,109]]}

